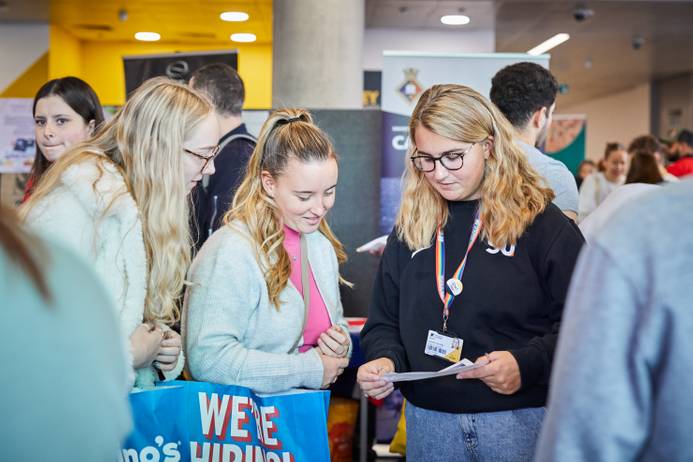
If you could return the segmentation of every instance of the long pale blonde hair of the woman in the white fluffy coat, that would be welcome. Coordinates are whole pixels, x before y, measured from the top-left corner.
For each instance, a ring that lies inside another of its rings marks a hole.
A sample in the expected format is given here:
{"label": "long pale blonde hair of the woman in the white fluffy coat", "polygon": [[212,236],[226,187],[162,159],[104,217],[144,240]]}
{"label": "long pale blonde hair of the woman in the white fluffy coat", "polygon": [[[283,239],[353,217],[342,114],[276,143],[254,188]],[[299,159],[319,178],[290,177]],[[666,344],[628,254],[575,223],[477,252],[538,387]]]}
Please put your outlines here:
{"label": "long pale blonde hair of the woman in the white fluffy coat", "polygon": [[183,142],[211,113],[207,100],[185,85],[163,77],[146,81],[94,138],[55,162],[21,210],[26,217],[72,165],[95,160],[101,175],[105,165],[114,166],[127,187],[123,194],[132,195],[142,221],[148,270],[145,321],[171,325],[179,319],[192,245]]}

